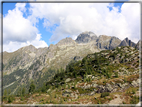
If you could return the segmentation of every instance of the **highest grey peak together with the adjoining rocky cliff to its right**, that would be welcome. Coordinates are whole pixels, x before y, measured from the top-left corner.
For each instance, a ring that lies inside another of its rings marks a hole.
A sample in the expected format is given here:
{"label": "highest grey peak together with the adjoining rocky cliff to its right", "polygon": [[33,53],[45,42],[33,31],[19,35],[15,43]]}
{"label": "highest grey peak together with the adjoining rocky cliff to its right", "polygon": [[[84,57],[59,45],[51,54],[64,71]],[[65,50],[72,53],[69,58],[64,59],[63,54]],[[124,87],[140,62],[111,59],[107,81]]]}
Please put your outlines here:
{"label": "highest grey peak together with the adjoining rocky cliff to its right", "polygon": [[[93,43],[98,49],[114,49],[121,43],[116,37],[100,35],[97,37],[93,32],[83,32],[75,40],[77,43]],[[122,44],[123,45],[123,44]]]}

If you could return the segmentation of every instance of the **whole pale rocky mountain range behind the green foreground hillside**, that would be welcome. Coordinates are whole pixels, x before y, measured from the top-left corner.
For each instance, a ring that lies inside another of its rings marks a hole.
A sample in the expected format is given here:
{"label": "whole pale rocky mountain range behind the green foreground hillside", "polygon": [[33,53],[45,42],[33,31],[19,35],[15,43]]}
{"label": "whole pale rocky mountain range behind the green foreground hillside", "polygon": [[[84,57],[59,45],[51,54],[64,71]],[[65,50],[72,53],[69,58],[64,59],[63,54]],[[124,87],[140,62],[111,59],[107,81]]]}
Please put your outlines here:
{"label": "whole pale rocky mountain range behind the green foreground hillside", "polygon": [[[128,40],[125,40],[128,41]],[[15,52],[3,53],[3,86],[16,94],[20,87],[29,89],[31,81],[36,89],[50,81],[59,69],[66,69],[71,62],[81,61],[88,54],[112,50],[122,43],[116,37],[83,32],[76,40],[65,38],[45,48],[26,46]],[[130,43],[131,44],[131,43]],[[122,44],[123,45],[123,44]]]}

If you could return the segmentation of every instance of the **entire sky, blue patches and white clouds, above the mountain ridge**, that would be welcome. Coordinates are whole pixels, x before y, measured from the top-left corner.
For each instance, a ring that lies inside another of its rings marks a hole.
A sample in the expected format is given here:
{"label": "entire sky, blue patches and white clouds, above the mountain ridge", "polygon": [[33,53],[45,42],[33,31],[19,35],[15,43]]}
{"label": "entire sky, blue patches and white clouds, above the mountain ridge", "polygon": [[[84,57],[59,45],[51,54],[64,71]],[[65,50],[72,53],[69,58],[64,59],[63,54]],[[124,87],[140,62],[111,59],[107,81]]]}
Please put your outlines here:
{"label": "entire sky, blue patches and white clouds, above the mountain ridge", "polygon": [[30,44],[47,47],[65,37],[76,39],[88,30],[98,36],[105,34],[120,39],[127,36],[137,42],[140,17],[138,12],[133,13],[133,8],[139,10],[138,6],[138,3],[3,3],[4,51],[15,51]]}

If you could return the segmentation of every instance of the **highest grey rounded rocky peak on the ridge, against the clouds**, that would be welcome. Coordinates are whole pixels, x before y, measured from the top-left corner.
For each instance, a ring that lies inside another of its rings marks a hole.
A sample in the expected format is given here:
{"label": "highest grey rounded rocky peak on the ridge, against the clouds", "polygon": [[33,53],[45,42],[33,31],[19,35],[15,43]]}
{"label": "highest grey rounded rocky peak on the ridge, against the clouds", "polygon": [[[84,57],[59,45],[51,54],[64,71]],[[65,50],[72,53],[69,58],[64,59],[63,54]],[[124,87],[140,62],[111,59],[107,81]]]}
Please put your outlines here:
{"label": "highest grey rounded rocky peak on the ridge, against the clouds", "polygon": [[90,41],[96,40],[97,36],[91,31],[86,31],[81,33],[75,40],[77,43],[88,43]]}

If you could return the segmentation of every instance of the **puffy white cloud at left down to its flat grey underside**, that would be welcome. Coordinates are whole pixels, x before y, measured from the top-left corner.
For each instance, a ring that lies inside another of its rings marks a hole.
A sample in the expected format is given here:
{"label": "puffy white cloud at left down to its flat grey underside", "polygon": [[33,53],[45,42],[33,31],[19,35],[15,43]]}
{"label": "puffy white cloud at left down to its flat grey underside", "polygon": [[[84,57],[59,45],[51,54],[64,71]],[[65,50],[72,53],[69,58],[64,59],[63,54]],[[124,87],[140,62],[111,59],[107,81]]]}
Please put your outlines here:
{"label": "puffy white cloud at left down to its flat grey underside", "polygon": [[4,43],[10,41],[26,42],[33,40],[38,33],[38,29],[32,23],[23,17],[25,4],[17,3],[16,8],[9,10],[3,18],[3,39]]}

